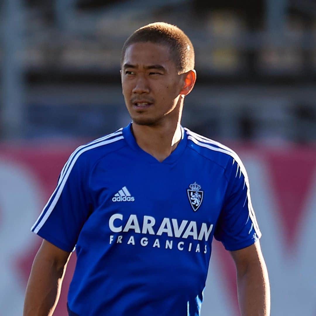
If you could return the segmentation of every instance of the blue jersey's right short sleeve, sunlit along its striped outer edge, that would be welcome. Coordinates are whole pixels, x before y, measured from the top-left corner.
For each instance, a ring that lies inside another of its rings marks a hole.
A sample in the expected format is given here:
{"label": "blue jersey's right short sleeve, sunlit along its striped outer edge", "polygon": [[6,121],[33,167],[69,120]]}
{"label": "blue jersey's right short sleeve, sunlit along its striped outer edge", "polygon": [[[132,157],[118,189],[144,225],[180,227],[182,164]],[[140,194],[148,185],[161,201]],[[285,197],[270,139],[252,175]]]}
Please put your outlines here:
{"label": "blue jersey's right short sleeve, sunlit along its striped outer edge", "polygon": [[240,161],[231,159],[227,171],[228,186],[216,223],[214,237],[229,251],[252,245],[261,237],[252,208],[246,169]]}

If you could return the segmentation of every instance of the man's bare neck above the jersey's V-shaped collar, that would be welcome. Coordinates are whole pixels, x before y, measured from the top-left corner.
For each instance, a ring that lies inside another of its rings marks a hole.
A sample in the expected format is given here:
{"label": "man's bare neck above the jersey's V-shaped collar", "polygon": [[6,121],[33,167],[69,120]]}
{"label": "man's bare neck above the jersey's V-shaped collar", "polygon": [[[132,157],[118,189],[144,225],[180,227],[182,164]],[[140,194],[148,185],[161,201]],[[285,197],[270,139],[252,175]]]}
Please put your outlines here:
{"label": "man's bare neck above the jersey's V-shaped collar", "polygon": [[176,149],[182,135],[180,121],[154,126],[133,123],[131,128],[138,146],[160,162]]}

